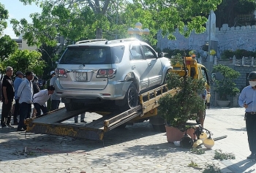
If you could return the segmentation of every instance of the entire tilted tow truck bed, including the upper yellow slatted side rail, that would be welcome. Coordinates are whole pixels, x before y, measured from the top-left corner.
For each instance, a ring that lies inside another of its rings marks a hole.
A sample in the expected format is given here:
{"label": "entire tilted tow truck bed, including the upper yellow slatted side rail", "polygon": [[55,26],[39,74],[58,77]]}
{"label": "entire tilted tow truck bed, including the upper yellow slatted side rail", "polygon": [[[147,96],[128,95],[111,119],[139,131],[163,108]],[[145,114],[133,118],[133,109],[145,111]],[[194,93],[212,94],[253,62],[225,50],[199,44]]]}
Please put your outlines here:
{"label": "entire tilted tow truck bed, including the upper yellow slatted side rail", "polygon": [[104,133],[124,123],[142,122],[141,120],[157,115],[159,99],[170,93],[174,96],[179,89],[167,90],[166,85],[154,88],[151,91],[140,94],[140,104],[125,112],[115,110],[104,112],[102,118],[86,124],[61,123],[84,112],[99,112],[97,109],[78,109],[69,111],[65,107],[57,109],[37,118],[25,120],[26,132],[36,134],[53,134],[64,137],[86,138],[102,140]]}

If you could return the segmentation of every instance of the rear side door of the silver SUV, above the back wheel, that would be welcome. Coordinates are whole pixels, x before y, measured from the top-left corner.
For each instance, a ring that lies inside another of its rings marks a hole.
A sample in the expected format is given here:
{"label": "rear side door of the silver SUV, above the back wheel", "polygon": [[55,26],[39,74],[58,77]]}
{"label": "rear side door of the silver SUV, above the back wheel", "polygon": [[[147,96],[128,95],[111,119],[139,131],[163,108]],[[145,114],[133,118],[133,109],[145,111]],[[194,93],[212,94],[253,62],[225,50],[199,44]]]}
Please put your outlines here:
{"label": "rear side door of the silver SUV, above the back wheel", "polygon": [[148,88],[148,62],[143,56],[140,45],[130,45],[129,63],[132,72],[139,78],[140,91]]}

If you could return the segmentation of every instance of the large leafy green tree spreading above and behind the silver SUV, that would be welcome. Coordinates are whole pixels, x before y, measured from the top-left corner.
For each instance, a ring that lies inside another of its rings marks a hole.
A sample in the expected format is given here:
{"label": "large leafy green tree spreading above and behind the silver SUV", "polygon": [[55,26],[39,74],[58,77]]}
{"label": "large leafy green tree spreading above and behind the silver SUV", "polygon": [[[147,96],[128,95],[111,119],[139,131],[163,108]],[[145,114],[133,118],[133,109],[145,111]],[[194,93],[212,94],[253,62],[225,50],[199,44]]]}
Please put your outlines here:
{"label": "large leafy green tree spreading above and behind the silver SUV", "polygon": [[[95,38],[96,28],[103,29],[106,39],[127,38],[127,28],[140,21],[143,28],[151,30],[144,36],[151,44],[156,43],[155,34],[169,34],[178,28],[181,34],[189,36],[206,30],[205,23],[210,9],[216,9],[221,0],[134,0],[129,1],[87,1],[87,0],[20,0],[24,4],[35,2],[42,7],[42,14],[31,14],[32,23],[26,19],[12,19],[15,34],[23,34],[29,45],[56,45],[56,36],[64,36],[69,42]],[[187,30],[184,30],[187,26]]]}

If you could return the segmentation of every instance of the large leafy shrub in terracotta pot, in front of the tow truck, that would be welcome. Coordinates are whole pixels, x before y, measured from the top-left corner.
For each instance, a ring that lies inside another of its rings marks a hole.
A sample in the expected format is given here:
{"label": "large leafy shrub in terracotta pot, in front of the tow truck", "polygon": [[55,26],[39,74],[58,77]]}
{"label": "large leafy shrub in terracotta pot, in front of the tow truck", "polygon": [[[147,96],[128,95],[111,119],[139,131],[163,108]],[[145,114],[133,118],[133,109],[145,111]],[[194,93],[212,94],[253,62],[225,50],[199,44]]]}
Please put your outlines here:
{"label": "large leafy shrub in terracotta pot, in front of the tow truck", "polygon": [[[172,64],[183,63],[180,55],[176,55],[171,60]],[[184,64],[185,69],[185,64]],[[179,76],[173,72],[170,72],[167,76],[167,87],[176,88],[178,92],[173,95],[167,94],[159,99],[158,113],[165,119],[167,130],[167,141],[173,142],[180,140],[183,137],[184,126],[186,126],[187,120],[197,120],[195,115],[191,117],[191,114],[195,112],[204,111],[204,100],[198,96],[198,93],[202,93],[205,88],[205,81],[195,80],[185,75]],[[168,129],[171,128],[172,134],[168,134]],[[188,131],[189,132],[189,131]],[[178,133],[178,134],[177,134]],[[192,134],[194,130],[192,129]],[[168,137],[170,137],[168,139]]]}

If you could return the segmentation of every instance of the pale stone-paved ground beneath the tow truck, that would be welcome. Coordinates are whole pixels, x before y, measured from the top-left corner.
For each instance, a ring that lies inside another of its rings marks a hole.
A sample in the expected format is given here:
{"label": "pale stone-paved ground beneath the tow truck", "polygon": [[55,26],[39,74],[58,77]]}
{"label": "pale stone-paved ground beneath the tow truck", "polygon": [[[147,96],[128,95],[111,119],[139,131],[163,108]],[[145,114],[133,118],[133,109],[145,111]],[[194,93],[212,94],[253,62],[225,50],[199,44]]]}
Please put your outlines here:
{"label": "pale stone-paved ground beneath the tow truck", "polygon": [[[94,117],[87,114],[86,118]],[[73,120],[67,120],[66,123]],[[17,127],[17,126],[16,126]],[[256,172],[249,155],[244,109],[206,110],[205,128],[227,138],[215,142],[211,150],[196,155],[167,143],[165,133],[155,132],[148,122],[113,129],[104,141],[73,139],[44,134],[26,134],[0,128],[0,172],[203,172],[215,164],[222,172]],[[235,160],[214,159],[214,150],[236,155]],[[26,152],[25,152],[26,151]],[[200,169],[189,167],[191,161]]]}

